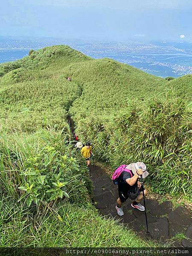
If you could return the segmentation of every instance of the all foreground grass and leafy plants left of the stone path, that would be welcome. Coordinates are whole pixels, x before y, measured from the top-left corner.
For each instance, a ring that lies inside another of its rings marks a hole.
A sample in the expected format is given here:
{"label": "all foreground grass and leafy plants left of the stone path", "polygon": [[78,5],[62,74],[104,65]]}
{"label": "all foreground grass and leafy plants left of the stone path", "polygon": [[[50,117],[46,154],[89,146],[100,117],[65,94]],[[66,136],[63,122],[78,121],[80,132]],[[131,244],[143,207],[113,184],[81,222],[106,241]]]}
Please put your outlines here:
{"label": "all foreground grass and leafy plants left of the stone path", "polygon": [[0,141],[2,247],[153,247],[91,204],[84,162],[69,127]]}

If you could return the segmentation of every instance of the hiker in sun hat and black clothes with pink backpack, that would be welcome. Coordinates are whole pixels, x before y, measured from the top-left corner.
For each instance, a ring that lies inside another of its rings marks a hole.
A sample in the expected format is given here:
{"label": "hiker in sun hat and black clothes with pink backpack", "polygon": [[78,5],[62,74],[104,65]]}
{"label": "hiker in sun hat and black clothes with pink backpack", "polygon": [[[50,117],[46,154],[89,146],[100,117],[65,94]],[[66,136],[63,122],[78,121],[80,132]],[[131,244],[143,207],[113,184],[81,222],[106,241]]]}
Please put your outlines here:
{"label": "hiker in sun hat and black clothes with pink backpack", "polygon": [[[141,167],[142,169],[140,169],[139,167]],[[140,211],[145,211],[145,207],[140,204],[140,201],[143,198],[142,191],[144,190],[144,195],[147,195],[147,191],[145,188],[143,188],[142,190],[141,183],[139,181],[140,175],[143,175],[143,178],[148,176],[145,164],[142,162],[137,162],[131,163],[128,166],[123,165],[123,168],[120,170],[120,172],[119,177],[116,179],[118,180],[117,183],[119,191],[119,198],[117,199],[116,205],[117,213],[120,216],[124,215],[124,212],[122,210],[122,203],[124,203],[128,198],[133,200],[131,207]],[[114,172],[114,174],[115,173],[116,172]],[[113,183],[117,184],[114,182],[114,180]]]}

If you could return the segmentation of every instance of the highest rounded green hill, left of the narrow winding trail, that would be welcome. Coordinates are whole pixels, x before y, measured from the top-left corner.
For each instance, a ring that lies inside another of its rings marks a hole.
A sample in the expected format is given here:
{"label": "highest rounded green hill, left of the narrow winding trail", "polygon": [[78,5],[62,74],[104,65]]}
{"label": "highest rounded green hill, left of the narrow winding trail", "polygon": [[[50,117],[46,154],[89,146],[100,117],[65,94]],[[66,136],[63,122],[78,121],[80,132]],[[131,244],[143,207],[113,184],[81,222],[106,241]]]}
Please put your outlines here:
{"label": "highest rounded green hill, left of the narrow winding trail", "polygon": [[[0,123],[8,130],[36,131],[47,125],[63,125],[68,108],[81,89],[67,77],[60,78],[69,63],[90,59],[67,46],[32,52],[14,63],[0,65]],[[10,71],[11,70],[11,71]],[[4,76],[3,76],[4,74]]]}

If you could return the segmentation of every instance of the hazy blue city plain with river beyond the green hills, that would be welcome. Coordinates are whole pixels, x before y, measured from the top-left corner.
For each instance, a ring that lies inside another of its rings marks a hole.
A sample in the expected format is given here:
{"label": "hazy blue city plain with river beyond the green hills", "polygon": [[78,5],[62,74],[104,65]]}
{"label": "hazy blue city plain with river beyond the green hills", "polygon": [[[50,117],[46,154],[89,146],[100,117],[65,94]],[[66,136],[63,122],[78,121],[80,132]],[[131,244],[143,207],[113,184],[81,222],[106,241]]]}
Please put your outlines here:
{"label": "hazy blue city plain with river beyond the green hills", "polygon": [[[116,42],[78,42],[46,38],[36,40],[34,38],[26,40],[0,38],[0,62],[15,61],[26,56],[26,51],[30,49],[37,50],[56,44],[68,44],[70,47],[93,58],[112,58],[156,76],[178,77],[192,73],[192,67],[189,65],[189,63],[192,63],[192,44],[185,47],[184,44],[177,46],[164,44],[162,46]],[[20,51],[20,54],[12,55],[11,51],[13,50]]]}

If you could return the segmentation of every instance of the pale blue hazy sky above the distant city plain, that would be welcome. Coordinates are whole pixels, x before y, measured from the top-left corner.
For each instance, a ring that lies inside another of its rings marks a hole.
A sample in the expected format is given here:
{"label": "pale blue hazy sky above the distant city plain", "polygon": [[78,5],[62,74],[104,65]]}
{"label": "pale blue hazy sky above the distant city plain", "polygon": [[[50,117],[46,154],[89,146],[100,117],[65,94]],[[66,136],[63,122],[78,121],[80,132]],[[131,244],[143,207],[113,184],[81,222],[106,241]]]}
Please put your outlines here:
{"label": "pale blue hazy sky above the distant city plain", "polygon": [[192,42],[192,0],[5,0],[0,35]]}

